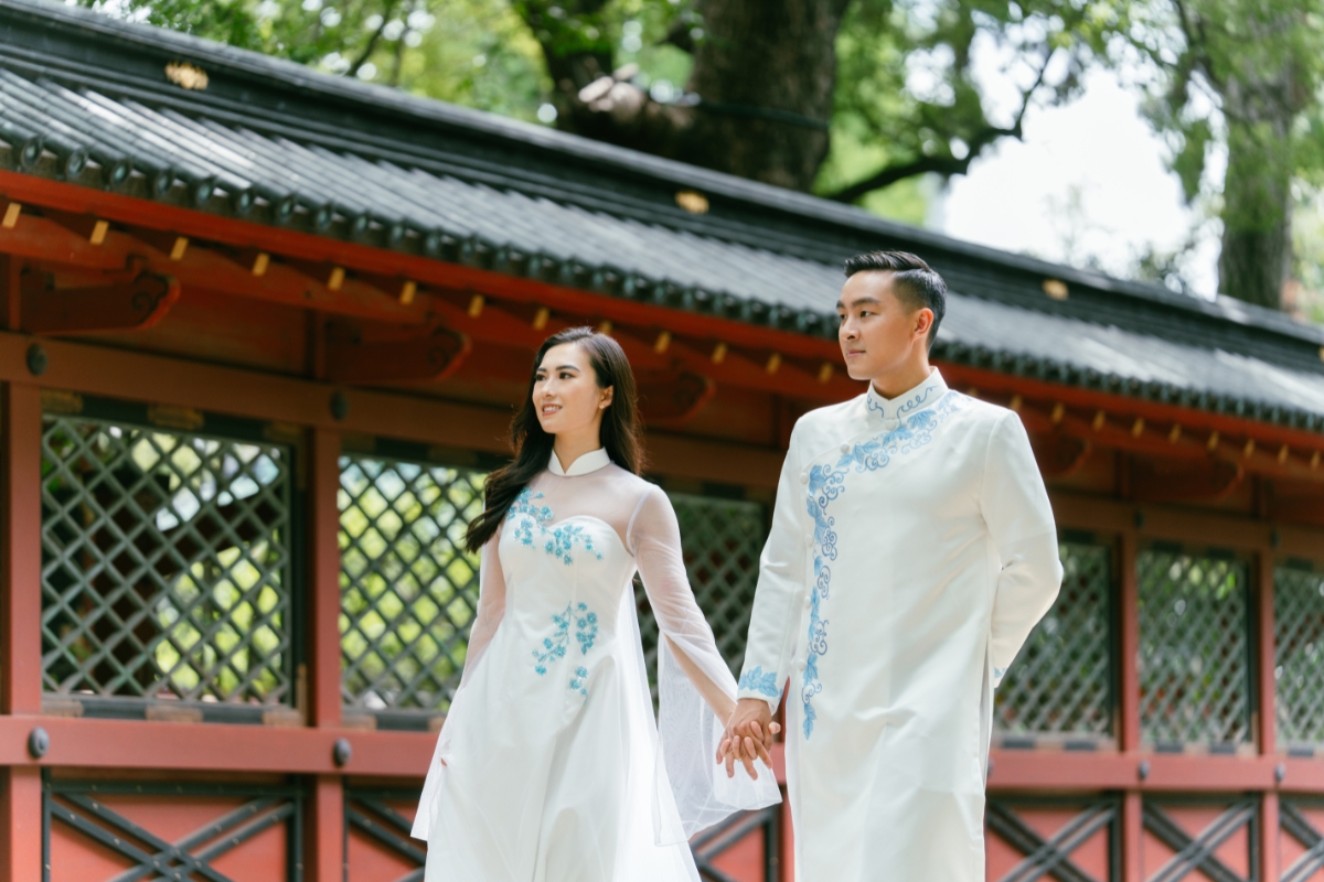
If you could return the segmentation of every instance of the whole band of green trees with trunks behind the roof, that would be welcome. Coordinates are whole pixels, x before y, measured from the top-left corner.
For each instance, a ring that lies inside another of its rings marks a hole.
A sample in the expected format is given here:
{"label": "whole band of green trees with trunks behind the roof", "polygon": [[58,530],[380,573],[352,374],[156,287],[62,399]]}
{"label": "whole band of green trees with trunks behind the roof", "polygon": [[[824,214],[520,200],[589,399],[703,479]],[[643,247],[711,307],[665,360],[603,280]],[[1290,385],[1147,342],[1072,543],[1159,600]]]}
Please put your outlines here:
{"label": "whole band of green trees with trunks behind the roof", "polygon": [[[916,222],[924,176],[964,173],[1021,136],[1033,103],[1072,98],[1086,69],[1107,63],[1147,94],[1188,198],[1221,218],[1222,290],[1278,305],[1294,268],[1309,268],[1294,259],[1291,185],[1324,184],[1324,0],[114,3],[332,74]],[[976,75],[977,57],[1001,73]],[[1227,157],[1223,181],[1209,175],[1214,155]],[[1174,255],[1151,263],[1141,271],[1176,278]]]}

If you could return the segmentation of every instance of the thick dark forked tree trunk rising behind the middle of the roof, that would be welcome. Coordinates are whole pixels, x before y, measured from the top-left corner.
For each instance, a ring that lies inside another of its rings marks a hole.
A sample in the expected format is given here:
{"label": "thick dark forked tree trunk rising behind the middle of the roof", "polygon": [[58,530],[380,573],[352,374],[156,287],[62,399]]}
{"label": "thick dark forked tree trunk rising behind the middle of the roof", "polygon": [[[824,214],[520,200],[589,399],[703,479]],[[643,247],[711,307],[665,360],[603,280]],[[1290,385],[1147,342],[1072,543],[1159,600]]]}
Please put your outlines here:
{"label": "thick dark forked tree trunk rising behind the middle of the roof", "polygon": [[[813,186],[828,155],[837,32],[850,0],[700,0],[704,33],[677,104],[651,100],[624,74],[616,82],[602,45],[580,41],[567,52],[573,42],[548,3],[516,9],[543,46],[561,128],[779,186]],[[581,25],[602,5],[561,3]]]}

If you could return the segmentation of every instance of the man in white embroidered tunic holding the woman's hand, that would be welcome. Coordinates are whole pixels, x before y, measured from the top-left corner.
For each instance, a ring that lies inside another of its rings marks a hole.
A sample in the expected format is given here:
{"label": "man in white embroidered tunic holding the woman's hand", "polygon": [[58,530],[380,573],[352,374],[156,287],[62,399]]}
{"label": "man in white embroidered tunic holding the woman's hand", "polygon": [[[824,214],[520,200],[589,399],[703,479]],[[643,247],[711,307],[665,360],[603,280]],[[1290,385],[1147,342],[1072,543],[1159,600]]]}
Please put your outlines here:
{"label": "man in white embroidered tunic holding the woman's hand", "polygon": [[789,676],[797,882],[984,879],[993,688],[1062,581],[1030,443],[928,364],[943,279],[846,262],[858,398],[790,435],[723,759],[767,759]]}

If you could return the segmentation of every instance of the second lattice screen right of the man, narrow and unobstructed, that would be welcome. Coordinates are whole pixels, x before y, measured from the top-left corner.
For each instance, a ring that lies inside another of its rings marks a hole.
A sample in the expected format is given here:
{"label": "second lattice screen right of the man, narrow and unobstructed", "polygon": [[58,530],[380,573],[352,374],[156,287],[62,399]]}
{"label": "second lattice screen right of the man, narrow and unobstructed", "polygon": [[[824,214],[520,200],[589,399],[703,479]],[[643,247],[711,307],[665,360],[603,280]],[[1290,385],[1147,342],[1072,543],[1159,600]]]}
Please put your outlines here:
{"label": "second lattice screen right of the man, narrow and unobstructed", "polygon": [[1160,750],[1234,751],[1251,741],[1247,566],[1155,546],[1140,586],[1140,729]]}

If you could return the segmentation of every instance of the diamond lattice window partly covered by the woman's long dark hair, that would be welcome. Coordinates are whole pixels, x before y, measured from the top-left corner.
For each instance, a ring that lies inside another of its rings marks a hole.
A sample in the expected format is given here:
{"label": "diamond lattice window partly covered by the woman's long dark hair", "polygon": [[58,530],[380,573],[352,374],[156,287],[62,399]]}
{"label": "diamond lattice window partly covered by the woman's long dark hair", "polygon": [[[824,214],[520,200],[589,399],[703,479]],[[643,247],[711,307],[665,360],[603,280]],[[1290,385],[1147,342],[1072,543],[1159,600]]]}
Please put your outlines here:
{"label": "diamond lattice window partly covered by the woman's long dark hair", "polygon": [[340,459],[340,660],[346,705],[445,711],[459,685],[478,555],[483,473],[369,456]]}

